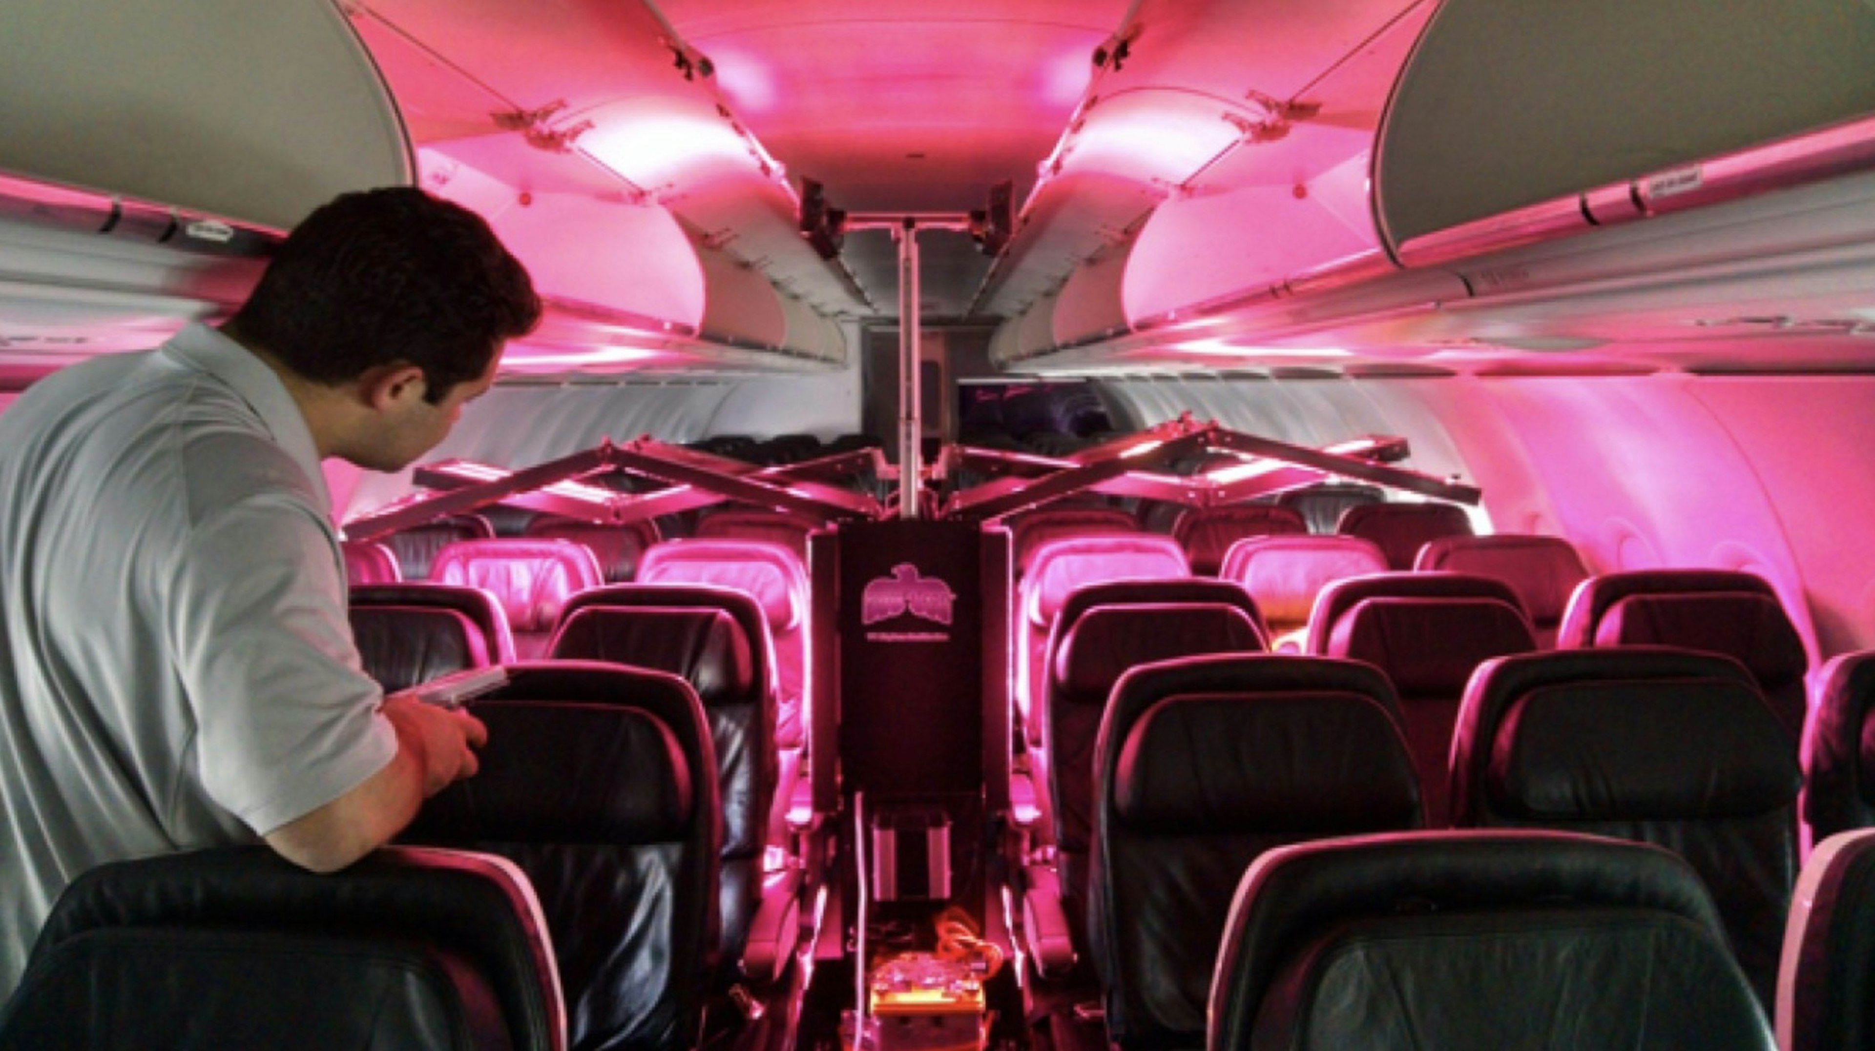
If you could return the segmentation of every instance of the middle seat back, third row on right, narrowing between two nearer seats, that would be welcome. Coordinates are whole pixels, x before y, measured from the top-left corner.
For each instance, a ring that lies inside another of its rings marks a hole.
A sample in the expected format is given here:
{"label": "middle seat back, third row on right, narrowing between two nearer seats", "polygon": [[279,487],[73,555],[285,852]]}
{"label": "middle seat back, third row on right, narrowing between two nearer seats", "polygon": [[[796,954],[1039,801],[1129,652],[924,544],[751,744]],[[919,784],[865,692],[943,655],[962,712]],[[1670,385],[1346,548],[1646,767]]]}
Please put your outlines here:
{"label": "middle seat back, third row on right, narrowing between two nearer seats", "polygon": [[1451,727],[1472,671],[1491,658],[1536,650],[1509,585],[1462,573],[1376,573],[1322,590],[1309,622],[1312,652],[1367,661],[1399,693],[1406,744],[1419,770],[1425,821],[1444,828]]}

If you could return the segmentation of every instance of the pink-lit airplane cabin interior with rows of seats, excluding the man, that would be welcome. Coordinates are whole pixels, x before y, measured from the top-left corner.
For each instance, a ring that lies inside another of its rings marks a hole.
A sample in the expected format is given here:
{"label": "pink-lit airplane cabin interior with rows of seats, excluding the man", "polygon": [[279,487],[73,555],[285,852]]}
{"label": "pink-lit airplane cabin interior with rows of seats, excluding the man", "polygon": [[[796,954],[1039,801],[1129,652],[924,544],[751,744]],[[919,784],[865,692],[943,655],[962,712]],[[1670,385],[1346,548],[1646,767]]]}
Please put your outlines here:
{"label": "pink-lit airplane cabin interior with rows of seats, excluding the man", "polygon": [[352,189],[546,315],[326,463],[480,774],[84,873],[0,1049],[1875,1045],[1875,6],[6,21],[0,412]]}

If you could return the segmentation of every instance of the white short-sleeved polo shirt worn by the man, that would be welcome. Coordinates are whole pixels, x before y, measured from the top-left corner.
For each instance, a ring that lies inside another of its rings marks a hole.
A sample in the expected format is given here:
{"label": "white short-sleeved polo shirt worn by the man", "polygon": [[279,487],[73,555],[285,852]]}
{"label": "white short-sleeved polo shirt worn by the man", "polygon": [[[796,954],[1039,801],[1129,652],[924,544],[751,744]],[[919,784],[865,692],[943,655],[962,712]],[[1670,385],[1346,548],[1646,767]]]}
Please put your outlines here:
{"label": "white short-sleeved polo shirt worn by the man", "polygon": [[272,369],[206,326],[0,414],[0,999],[58,892],[259,836],[396,753],[330,496]]}

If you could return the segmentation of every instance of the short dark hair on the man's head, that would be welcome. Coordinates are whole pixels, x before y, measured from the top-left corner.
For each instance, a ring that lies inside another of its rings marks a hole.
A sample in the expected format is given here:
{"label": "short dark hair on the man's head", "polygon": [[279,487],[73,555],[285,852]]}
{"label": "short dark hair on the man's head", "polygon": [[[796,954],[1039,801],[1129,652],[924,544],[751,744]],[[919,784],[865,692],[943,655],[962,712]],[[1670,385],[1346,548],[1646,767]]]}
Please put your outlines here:
{"label": "short dark hair on the man's head", "polygon": [[407,362],[437,403],[538,322],[527,270],[480,215],[390,187],[336,197],[294,227],[229,328],[330,386]]}

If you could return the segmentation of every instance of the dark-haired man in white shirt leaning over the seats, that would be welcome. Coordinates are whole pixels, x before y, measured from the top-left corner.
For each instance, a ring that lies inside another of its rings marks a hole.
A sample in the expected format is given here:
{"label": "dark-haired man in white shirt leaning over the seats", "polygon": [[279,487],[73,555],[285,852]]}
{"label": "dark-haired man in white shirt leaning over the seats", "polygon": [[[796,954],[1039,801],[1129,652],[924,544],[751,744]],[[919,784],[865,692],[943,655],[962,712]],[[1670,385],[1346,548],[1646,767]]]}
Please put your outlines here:
{"label": "dark-haired man in white shirt leaning over the seats", "polygon": [[360,669],[319,465],[412,463],[538,318],[480,217],[352,193],[221,332],[0,416],[0,999],[92,866],[264,839],[332,871],[474,774],[482,723]]}

